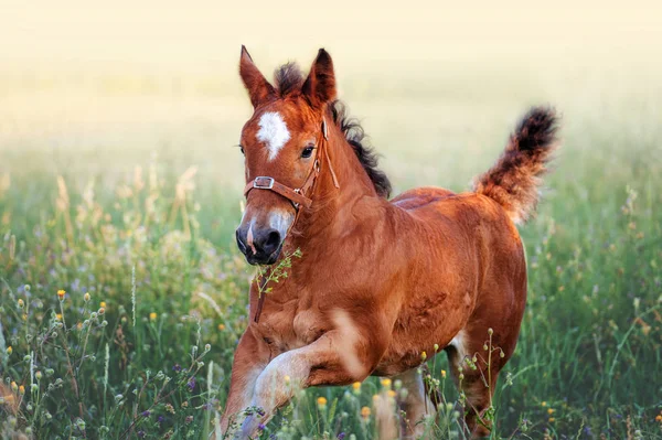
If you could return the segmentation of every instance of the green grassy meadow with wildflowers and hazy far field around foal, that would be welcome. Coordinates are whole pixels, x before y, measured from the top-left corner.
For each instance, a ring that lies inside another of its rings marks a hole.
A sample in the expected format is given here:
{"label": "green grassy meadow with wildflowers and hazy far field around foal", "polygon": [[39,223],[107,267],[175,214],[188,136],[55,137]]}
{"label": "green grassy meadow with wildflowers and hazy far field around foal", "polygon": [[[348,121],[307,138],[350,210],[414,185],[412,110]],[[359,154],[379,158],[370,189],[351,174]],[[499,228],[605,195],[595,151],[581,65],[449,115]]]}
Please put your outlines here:
{"label": "green grassy meadow with wildflowers and hazy far field around foal", "polygon": [[[528,300],[492,438],[662,438],[654,73],[349,64],[337,66],[341,97],[396,192],[467,190],[527,106],[559,110],[563,148],[521,228]],[[234,66],[223,74],[2,75],[2,438],[212,432],[255,275],[234,245],[244,184],[234,146],[250,109]],[[425,361],[447,403],[428,434],[458,438],[445,354]],[[404,393],[378,378],[308,389],[261,438],[375,439],[381,403],[397,412]]]}

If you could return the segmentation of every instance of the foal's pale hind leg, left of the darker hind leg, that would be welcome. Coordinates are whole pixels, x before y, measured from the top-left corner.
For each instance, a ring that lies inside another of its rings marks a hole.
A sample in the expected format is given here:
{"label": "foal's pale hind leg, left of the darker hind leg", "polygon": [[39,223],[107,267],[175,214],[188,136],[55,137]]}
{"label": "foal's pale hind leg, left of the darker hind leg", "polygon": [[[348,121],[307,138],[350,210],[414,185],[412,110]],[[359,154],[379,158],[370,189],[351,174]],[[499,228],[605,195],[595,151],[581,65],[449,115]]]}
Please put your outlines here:
{"label": "foal's pale hind leg, left of the darker hind leg", "polygon": [[427,367],[418,373],[418,368],[412,368],[394,377],[402,380],[403,387],[407,389],[407,397],[402,403],[402,409],[405,412],[403,419],[403,436],[405,439],[420,439],[426,433],[426,419],[435,417],[437,412],[436,405],[426,393],[423,382],[423,375],[427,373]]}

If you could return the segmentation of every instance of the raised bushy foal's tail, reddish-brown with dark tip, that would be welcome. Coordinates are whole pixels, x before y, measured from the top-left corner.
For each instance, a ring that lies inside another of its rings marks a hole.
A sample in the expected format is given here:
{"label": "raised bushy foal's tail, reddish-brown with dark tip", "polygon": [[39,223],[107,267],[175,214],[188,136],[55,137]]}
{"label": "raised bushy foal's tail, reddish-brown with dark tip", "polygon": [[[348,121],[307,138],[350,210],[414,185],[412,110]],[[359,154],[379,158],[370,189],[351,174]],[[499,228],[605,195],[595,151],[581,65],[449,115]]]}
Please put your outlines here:
{"label": "raised bushy foal's tail, reddish-brown with dark tip", "polygon": [[511,135],[499,161],[478,176],[473,191],[499,202],[514,223],[535,210],[538,185],[556,147],[557,118],[553,108],[534,107]]}

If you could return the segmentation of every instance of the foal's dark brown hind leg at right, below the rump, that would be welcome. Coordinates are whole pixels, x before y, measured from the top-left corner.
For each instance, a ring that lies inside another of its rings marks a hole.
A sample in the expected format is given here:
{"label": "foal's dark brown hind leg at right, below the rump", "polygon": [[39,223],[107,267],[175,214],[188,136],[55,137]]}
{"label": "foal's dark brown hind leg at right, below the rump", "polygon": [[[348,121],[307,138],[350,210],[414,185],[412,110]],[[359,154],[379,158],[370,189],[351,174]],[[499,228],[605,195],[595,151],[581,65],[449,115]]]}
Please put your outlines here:
{"label": "foal's dark brown hind leg at right, below the rump", "polygon": [[[472,439],[490,434],[491,423],[485,418],[487,410],[494,396],[499,372],[509,357],[501,357],[501,347],[494,343],[495,335],[492,340],[492,355],[489,355],[490,334],[488,332],[489,330],[482,325],[469,325],[460,331],[446,347],[456,385],[461,385],[466,396],[465,436]],[[484,345],[488,346],[487,351]],[[508,350],[508,354],[511,353],[512,350]],[[461,368],[461,373],[459,368]]]}

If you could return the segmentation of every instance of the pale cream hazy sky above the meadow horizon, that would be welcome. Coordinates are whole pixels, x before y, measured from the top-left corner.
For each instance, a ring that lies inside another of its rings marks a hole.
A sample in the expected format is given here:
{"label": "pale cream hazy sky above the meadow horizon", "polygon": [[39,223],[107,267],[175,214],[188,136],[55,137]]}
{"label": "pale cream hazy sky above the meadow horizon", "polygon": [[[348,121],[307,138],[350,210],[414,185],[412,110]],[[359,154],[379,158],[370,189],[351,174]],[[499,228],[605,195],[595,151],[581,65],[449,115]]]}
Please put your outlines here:
{"label": "pale cream hazy sky above the meadow horizon", "polygon": [[[236,63],[241,44],[266,62],[319,46],[370,62],[490,53],[652,56],[653,2],[0,0],[8,65],[200,68]],[[389,4],[397,4],[391,7]]]}

